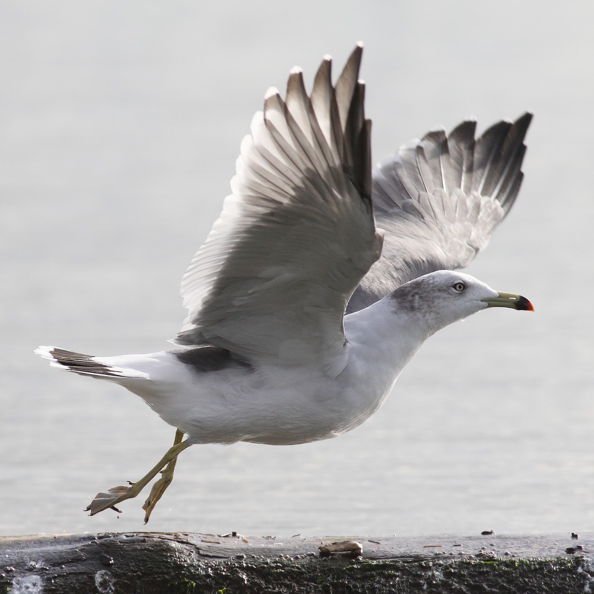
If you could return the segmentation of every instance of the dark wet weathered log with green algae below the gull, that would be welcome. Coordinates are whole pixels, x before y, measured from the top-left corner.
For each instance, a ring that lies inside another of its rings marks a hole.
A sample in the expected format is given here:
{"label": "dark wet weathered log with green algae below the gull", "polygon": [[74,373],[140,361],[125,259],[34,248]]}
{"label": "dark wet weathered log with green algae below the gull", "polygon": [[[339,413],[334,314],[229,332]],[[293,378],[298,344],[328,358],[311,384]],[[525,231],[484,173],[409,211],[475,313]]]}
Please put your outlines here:
{"label": "dark wet weathered log with green algae below the gull", "polygon": [[[345,554],[321,556],[320,545],[345,540],[362,545],[360,557],[353,558],[352,544]],[[594,590],[593,556],[593,534],[572,539],[569,533],[347,539],[181,532],[4,536],[0,593],[571,594]]]}

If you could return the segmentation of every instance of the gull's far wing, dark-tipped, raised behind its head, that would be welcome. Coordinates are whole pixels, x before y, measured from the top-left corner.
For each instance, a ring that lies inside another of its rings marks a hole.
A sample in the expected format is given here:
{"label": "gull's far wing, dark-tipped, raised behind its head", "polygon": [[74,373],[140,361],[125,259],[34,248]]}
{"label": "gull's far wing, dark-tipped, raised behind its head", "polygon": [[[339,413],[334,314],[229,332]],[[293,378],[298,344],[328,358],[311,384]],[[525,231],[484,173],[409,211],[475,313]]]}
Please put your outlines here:
{"label": "gull's far wing, dark-tipped, raised behind its head", "polygon": [[522,183],[532,115],[498,122],[475,140],[476,122],[401,147],[373,175],[373,206],[384,249],[353,293],[347,313],[435,270],[468,266],[488,244]]}

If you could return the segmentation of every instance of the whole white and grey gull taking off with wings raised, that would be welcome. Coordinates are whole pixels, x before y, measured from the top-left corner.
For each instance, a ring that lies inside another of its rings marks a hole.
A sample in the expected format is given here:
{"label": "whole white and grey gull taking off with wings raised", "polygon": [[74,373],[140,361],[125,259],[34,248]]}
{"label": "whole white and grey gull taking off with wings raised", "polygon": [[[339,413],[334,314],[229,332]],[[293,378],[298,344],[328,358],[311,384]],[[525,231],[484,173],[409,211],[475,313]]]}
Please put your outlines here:
{"label": "whole white and grey gull taking off with wings raised", "polygon": [[97,494],[90,515],[119,511],[161,473],[146,523],[192,444],[301,444],[350,431],[441,328],[488,308],[533,311],[457,271],[516,199],[530,113],[479,138],[470,120],[435,129],[372,168],[361,57],[359,43],[333,85],[325,56],[309,95],[297,67],[284,100],[267,91],[232,194],[182,278],[178,348],[36,350],[127,388],[176,428],[153,469]]}

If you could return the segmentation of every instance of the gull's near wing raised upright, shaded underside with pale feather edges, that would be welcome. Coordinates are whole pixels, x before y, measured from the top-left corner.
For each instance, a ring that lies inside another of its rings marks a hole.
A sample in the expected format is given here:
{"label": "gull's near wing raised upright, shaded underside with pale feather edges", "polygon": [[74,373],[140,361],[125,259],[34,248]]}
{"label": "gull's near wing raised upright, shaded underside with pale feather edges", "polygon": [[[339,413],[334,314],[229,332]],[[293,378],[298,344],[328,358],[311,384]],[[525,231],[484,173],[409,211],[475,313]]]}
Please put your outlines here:
{"label": "gull's near wing raised upright, shaded underside with pale feather edges", "polygon": [[342,352],[346,303],[381,251],[361,54],[334,87],[324,58],[309,97],[298,68],[284,102],[268,90],[233,194],[182,279],[189,314],[173,342],[289,364]]}

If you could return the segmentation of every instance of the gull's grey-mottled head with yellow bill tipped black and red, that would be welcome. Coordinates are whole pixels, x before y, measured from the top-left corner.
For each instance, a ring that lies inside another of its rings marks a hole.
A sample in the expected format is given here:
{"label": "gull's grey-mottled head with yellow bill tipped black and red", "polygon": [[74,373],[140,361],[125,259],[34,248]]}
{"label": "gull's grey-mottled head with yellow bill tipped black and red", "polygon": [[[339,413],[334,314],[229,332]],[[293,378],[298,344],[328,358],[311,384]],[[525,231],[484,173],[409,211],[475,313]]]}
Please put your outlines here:
{"label": "gull's grey-mottled head with yellow bill tipped black and red", "polygon": [[469,274],[438,270],[398,287],[392,294],[397,311],[419,315],[435,332],[489,307],[534,311],[525,297],[500,293]]}

